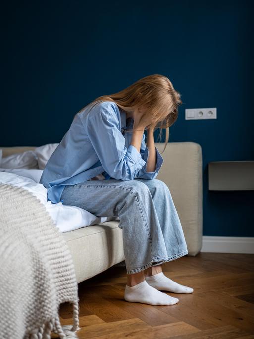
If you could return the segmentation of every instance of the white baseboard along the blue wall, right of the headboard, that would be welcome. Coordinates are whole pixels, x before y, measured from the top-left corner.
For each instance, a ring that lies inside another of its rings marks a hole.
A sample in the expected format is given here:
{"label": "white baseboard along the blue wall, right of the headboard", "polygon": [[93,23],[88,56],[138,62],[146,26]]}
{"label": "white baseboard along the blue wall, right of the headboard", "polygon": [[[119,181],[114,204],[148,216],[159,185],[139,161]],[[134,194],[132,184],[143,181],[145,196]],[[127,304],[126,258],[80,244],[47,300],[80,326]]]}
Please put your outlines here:
{"label": "white baseboard along the blue wall, right of the headboard", "polygon": [[254,238],[203,235],[201,252],[254,254]]}

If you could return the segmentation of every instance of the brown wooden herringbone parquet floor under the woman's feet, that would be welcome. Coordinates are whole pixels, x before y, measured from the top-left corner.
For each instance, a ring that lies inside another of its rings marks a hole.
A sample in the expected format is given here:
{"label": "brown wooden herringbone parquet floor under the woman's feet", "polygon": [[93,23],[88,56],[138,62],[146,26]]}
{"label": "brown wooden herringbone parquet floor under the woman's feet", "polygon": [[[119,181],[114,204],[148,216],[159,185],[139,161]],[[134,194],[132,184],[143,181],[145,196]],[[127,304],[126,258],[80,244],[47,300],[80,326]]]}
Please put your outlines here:
{"label": "brown wooden herringbone parquet floor under the woman's feet", "polygon": [[[80,283],[78,337],[254,339],[254,255],[202,252],[163,264],[163,272],[194,292],[168,292],[179,299],[169,306],[127,302],[123,266]],[[60,315],[62,325],[72,324],[69,304]]]}

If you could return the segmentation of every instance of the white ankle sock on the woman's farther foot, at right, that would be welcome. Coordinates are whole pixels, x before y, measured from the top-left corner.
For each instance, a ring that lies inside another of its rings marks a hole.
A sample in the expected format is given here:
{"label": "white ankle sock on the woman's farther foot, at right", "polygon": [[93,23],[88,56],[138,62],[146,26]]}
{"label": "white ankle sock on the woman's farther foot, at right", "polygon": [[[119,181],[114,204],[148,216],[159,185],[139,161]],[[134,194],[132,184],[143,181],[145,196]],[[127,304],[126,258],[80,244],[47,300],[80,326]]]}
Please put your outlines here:
{"label": "white ankle sock on the woman's farther foot, at right", "polygon": [[151,277],[145,277],[145,279],[146,279],[146,282],[150,286],[158,290],[174,292],[174,293],[192,293],[193,292],[193,288],[180,285],[179,283],[174,282],[173,280],[166,277],[163,272],[157,273]]}

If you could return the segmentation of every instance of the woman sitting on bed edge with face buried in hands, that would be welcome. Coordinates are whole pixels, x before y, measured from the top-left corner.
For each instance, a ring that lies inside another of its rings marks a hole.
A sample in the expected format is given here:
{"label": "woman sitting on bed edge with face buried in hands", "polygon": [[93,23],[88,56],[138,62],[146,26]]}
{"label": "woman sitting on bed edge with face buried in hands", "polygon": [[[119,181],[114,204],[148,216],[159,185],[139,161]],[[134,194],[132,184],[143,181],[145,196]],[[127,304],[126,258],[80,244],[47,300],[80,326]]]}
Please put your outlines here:
{"label": "woman sitting on bed edge with face buried in hands", "polygon": [[119,218],[126,301],[173,305],[178,298],[161,290],[193,292],[167,278],[161,266],[188,253],[170,191],[156,179],[163,158],[153,137],[155,128],[167,128],[167,143],[181,103],[170,80],[159,74],[98,97],[75,115],[40,181],[53,203]]}

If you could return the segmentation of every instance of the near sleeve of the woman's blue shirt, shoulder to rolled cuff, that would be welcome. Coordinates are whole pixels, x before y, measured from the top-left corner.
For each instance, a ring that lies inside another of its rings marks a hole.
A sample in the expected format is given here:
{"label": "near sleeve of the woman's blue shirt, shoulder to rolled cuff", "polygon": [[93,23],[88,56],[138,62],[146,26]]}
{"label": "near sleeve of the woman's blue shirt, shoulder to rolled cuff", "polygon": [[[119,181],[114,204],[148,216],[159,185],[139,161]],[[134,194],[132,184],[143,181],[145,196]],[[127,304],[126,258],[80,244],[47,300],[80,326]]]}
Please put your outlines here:
{"label": "near sleeve of the woman's blue shirt, shoulder to rolled cuff", "polygon": [[87,117],[84,127],[102,167],[110,177],[133,180],[146,162],[136,147],[125,146],[116,113],[104,108],[94,111]]}

